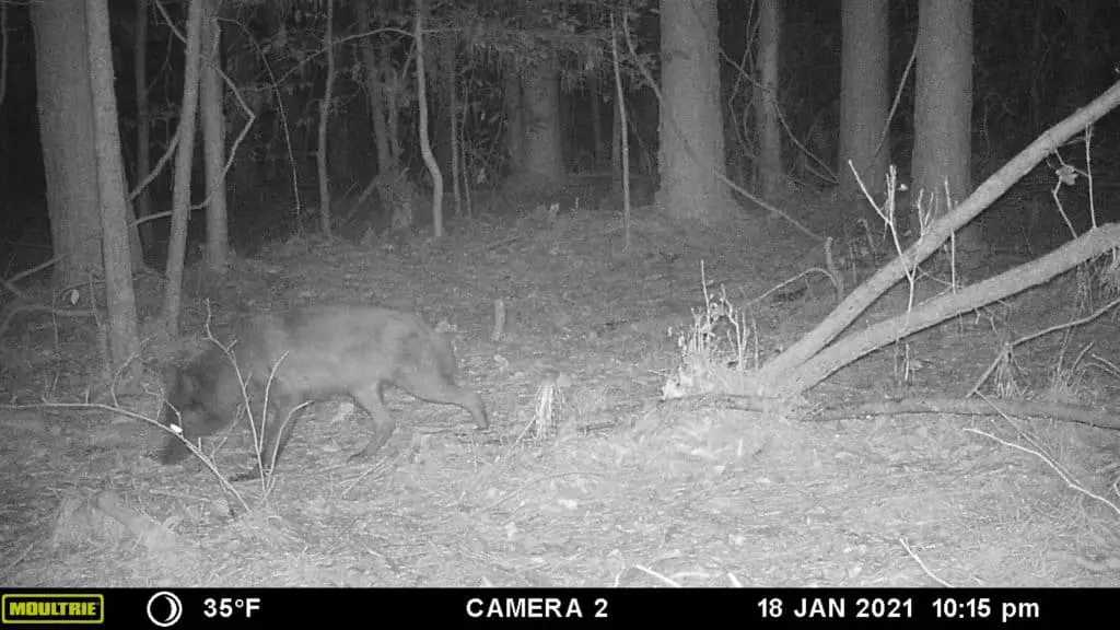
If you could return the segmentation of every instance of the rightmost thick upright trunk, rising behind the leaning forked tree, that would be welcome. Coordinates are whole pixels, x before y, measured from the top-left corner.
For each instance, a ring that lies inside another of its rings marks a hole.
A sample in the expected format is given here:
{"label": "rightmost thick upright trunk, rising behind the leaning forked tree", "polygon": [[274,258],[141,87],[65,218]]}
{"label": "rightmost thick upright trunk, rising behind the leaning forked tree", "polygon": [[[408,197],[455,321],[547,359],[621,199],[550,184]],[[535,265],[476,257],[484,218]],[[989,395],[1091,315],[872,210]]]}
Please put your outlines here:
{"label": "rightmost thick upright trunk, rising behind the leaning forked tree", "polygon": [[[911,200],[937,217],[972,192],[972,0],[918,0],[917,21]],[[956,234],[959,252],[980,249],[979,229]]]}

